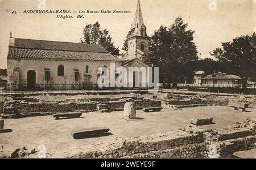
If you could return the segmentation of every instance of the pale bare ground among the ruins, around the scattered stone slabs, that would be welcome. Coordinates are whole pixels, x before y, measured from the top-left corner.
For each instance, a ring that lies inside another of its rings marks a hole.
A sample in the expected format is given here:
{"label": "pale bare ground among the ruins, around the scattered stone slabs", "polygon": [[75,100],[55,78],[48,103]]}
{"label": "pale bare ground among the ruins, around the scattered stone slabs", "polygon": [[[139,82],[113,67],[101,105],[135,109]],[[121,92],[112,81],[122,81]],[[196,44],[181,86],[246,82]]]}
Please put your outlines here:
{"label": "pale bare ground among the ruins, around the scattered stone slabs", "polygon": [[[52,157],[63,157],[77,152],[76,148],[88,144],[112,140],[118,136],[136,137],[158,132],[178,130],[189,123],[191,118],[213,117],[215,124],[200,126],[202,128],[227,127],[247,118],[256,117],[256,109],[248,112],[234,111],[231,107],[195,107],[174,110],[166,106],[163,111],[144,113],[137,110],[137,121],[123,120],[123,111],[112,113],[83,113],[82,118],[55,120],[52,116],[29,117],[23,119],[5,119],[5,129],[12,132],[0,134],[0,146],[8,151],[17,147],[38,148],[40,144],[46,146]],[[71,132],[86,127],[109,127],[111,135],[98,138],[73,139]],[[254,157],[253,151],[242,152],[241,157]],[[240,154],[241,155],[241,154]]]}

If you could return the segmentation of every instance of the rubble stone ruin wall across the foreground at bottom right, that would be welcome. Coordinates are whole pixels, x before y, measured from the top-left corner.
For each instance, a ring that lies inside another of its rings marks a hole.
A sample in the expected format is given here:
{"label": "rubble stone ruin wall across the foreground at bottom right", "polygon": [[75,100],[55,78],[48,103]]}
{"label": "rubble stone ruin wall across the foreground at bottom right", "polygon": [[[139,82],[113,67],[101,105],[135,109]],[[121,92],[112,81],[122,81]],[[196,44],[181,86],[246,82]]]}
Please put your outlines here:
{"label": "rubble stone ruin wall across the foreground at bottom right", "polygon": [[179,131],[137,138],[116,138],[79,148],[71,158],[218,158],[255,148],[256,119],[220,130],[191,125]]}

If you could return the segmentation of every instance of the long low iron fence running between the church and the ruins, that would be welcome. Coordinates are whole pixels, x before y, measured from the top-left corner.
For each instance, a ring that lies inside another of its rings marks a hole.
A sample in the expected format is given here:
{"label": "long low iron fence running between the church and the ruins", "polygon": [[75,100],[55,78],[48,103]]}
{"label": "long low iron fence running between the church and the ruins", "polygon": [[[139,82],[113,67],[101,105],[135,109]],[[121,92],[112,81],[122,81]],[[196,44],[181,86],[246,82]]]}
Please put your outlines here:
{"label": "long low iron fence running between the church and the ruins", "polygon": [[[185,86],[189,91],[196,92],[215,92],[215,93],[230,93],[230,94],[250,94],[256,95],[256,89],[247,88],[246,90],[240,87],[230,87],[227,85],[222,86],[197,86],[192,84],[177,84],[179,89],[183,89]],[[200,89],[205,87],[206,89]],[[94,83],[61,83],[61,84],[34,84],[27,86],[27,84],[8,84],[6,82],[0,82],[0,94],[31,94],[31,93],[73,93],[73,92],[85,92],[85,91],[97,91],[97,90],[148,90],[146,84],[139,84],[138,87],[123,87],[121,84],[109,85],[108,87],[100,87]],[[158,90],[173,89],[172,84],[159,83]]]}

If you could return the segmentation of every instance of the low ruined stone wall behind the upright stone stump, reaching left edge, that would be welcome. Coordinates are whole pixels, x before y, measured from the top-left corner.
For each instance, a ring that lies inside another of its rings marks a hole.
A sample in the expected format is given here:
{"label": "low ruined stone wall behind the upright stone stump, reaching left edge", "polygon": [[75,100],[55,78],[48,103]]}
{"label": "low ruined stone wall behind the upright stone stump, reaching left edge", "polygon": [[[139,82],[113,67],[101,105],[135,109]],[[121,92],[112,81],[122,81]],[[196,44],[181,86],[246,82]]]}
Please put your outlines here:
{"label": "low ruined stone wall behind the upright stone stump, reaching left edge", "polygon": [[3,118],[22,118],[39,115],[52,115],[61,112],[82,111],[91,112],[97,111],[99,103],[106,104],[108,111],[123,110],[126,102],[134,101],[136,109],[143,109],[144,107],[159,107],[161,100],[159,99],[145,99],[143,97],[131,96],[120,98],[89,98],[79,99],[75,101],[69,99],[68,101],[52,101],[39,102],[36,98],[15,98],[9,101],[0,102],[3,107]]}

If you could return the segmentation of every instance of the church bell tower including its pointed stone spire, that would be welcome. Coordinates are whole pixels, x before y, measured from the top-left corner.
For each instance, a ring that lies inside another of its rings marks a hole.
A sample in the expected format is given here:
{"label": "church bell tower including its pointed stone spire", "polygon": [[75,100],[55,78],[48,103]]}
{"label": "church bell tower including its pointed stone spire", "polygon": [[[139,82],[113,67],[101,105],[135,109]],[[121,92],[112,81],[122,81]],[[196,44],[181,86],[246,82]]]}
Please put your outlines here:
{"label": "church bell tower including its pointed stone spire", "polygon": [[130,36],[127,38],[128,51],[127,59],[138,57],[145,63],[150,63],[148,57],[150,37],[147,36],[147,29],[143,23],[141,4],[138,1],[134,22],[131,24]]}

